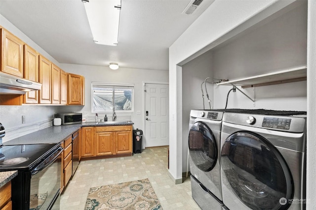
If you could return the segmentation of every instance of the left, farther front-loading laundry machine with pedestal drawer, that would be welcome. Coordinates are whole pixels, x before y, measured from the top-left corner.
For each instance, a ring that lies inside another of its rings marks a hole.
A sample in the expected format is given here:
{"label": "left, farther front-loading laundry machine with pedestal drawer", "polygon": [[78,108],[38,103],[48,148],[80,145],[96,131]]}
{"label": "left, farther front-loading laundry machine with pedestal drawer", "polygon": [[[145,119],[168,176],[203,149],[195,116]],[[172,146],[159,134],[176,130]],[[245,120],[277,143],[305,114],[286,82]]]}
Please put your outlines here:
{"label": "left, farther front-loading laundry machine with pedestal drawer", "polygon": [[189,162],[192,197],[202,210],[222,210],[220,136],[223,111],[191,110]]}

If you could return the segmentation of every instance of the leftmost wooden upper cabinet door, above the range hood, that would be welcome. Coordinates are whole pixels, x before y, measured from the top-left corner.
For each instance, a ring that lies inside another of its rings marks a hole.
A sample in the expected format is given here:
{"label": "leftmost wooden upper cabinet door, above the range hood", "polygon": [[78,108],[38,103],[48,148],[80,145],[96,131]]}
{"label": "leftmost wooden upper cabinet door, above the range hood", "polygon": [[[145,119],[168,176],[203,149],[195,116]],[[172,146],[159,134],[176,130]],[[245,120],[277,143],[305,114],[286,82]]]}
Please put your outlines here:
{"label": "leftmost wooden upper cabinet door, above the range hood", "polygon": [[23,77],[23,41],[1,30],[1,71]]}

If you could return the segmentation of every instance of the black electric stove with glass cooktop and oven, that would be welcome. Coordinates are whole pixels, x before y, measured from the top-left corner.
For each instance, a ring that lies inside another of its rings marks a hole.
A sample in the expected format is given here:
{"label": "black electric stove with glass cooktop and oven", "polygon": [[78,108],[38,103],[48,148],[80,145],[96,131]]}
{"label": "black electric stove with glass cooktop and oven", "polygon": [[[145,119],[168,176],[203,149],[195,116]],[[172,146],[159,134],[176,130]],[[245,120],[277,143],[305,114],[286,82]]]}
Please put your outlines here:
{"label": "black electric stove with glass cooktop and oven", "polygon": [[61,144],[2,145],[4,136],[0,123],[0,172],[18,172],[11,180],[12,209],[59,209]]}

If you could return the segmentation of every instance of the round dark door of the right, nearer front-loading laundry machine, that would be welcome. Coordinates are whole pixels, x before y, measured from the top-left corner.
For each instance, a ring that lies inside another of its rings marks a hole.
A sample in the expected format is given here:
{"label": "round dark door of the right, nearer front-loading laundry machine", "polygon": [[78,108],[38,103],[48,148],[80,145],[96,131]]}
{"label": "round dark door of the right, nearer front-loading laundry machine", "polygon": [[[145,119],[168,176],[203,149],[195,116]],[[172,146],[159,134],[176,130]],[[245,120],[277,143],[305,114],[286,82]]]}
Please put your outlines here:
{"label": "round dark door of the right, nearer front-loading laundry machine", "polygon": [[287,209],[292,176],[276,148],[262,136],[239,131],[222,148],[222,169],[231,190],[249,208]]}

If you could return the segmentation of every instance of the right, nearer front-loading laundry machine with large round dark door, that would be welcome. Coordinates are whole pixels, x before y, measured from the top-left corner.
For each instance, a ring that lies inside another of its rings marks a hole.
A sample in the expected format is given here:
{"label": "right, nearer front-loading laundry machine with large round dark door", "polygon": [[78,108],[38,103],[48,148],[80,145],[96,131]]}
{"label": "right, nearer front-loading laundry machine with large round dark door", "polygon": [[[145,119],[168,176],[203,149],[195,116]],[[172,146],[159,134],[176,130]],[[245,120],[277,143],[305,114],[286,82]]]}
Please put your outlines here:
{"label": "right, nearer front-loading laundry machine with large round dark door", "polygon": [[306,112],[224,113],[221,179],[230,210],[305,209]]}

